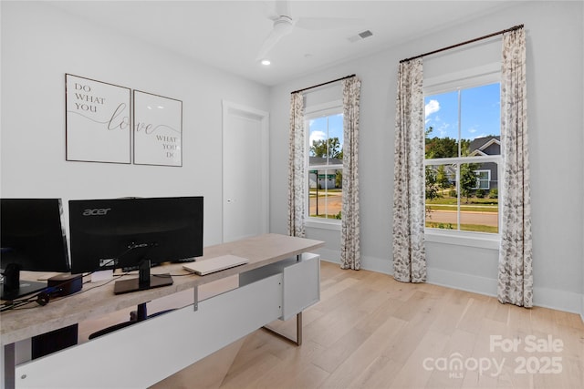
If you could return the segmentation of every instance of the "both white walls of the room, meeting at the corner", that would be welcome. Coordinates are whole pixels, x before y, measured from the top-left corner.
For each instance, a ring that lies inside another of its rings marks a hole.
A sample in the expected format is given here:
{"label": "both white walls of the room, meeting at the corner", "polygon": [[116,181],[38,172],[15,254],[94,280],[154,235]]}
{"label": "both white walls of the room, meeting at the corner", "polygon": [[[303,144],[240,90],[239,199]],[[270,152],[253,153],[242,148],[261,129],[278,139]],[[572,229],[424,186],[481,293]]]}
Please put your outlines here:
{"label": "both white walls of the room, meeting at the corner", "polygon": [[[584,317],[582,3],[533,2],[268,89],[42,3],[2,2],[2,197],[205,197],[205,244],[221,240],[221,100],[271,111],[270,224],[286,233],[289,92],[362,80],[361,247],[391,272],[393,128],[400,59],[517,24],[527,29],[535,302]],[[559,61],[568,59],[561,65]],[[65,73],[183,100],[183,168],[65,160]],[[308,229],[339,260],[339,231]],[[430,282],[495,293],[497,253],[428,243]]]}

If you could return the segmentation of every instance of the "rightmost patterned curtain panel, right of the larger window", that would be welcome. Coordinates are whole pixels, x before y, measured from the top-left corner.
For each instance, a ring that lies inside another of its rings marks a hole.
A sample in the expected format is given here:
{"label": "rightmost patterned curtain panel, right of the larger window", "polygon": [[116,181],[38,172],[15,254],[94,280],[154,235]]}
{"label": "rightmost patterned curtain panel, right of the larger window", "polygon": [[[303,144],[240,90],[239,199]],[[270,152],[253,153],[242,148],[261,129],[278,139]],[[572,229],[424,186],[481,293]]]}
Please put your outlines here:
{"label": "rightmost patterned curtain panel, right of the larger window", "polygon": [[526,36],[503,35],[501,140],[503,204],[497,298],[533,306],[531,200],[527,148]]}

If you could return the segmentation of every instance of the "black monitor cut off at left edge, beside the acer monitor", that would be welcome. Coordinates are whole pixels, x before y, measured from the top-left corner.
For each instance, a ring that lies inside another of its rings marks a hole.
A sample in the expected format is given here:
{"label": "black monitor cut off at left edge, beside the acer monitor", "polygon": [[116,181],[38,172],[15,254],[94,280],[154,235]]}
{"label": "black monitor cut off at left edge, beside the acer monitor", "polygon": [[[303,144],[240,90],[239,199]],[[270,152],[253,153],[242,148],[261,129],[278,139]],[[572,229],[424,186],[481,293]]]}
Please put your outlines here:
{"label": "black monitor cut off at left edge, beside the acer monitor", "polygon": [[20,271],[69,271],[60,199],[0,200],[3,300],[39,292],[47,282],[20,280]]}

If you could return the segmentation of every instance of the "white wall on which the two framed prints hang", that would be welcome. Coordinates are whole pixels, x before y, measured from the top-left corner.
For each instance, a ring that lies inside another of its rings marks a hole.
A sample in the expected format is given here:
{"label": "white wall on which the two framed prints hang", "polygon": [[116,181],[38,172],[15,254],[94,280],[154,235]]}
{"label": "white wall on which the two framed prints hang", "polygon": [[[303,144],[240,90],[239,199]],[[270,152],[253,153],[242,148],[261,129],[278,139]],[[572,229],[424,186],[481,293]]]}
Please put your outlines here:
{"label": "white wall on which the two framed prints hang", "polygon": [[[267,111],[267,87],[59,8],[2,2],[2,197],[204,196],[222,236],[222,99]],[[183,167],[65,160],[65,73],[183,101]]]}

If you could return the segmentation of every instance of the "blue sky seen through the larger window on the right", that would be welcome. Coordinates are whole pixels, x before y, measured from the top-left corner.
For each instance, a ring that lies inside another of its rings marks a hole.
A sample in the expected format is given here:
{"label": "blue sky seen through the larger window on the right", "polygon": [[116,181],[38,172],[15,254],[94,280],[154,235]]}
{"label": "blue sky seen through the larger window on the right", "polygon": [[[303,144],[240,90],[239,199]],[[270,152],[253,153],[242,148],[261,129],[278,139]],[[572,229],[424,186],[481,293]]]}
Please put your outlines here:
{"label": "blue sky seen through the larger window on the right", "polygon": [[[461,93],[461,138],[474,139],[501,134],[499,84],[463,89]],[[458,91],[424,98],[426,125],[431,138],[458,138]]]}

